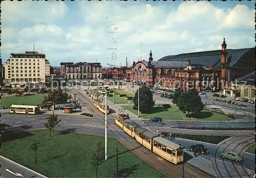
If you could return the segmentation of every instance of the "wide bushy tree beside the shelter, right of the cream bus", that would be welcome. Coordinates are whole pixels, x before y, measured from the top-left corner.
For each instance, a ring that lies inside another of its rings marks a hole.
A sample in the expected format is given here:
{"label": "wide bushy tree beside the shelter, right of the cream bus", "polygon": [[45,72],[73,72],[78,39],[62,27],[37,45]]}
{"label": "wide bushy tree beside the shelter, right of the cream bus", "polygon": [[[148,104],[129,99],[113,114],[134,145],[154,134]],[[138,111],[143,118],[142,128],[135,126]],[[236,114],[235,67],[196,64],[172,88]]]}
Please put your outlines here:
{"label": "wide bushy tree beside the shelter, right of the cream bus", "polygon": [[[42,103],[67,103],[69,99],[69,95],[66,92],[63,92],[60,88],[49,90],[48,95],[45,96],[44,101]],[[55,105],[54,105],[55,109]]]}

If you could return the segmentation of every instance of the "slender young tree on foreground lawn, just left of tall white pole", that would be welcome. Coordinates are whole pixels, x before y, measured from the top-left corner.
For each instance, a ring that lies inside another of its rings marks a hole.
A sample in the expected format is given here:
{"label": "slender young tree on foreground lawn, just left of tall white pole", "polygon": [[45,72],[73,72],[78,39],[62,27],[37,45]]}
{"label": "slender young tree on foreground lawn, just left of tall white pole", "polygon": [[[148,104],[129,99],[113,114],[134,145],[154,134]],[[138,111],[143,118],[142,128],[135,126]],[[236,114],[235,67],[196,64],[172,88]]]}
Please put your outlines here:
{"label": "slender young tree on foreground lawn, just left of tall white pole", "polygon": [[91,159],[91,165],[95,168],[96,177],[98,177],[98,168],[103,163],[104,158],[105,158],[104,147],[102,146],[101,142],[98,142],[97,148],[95,151],[93,151],[93,155]]}

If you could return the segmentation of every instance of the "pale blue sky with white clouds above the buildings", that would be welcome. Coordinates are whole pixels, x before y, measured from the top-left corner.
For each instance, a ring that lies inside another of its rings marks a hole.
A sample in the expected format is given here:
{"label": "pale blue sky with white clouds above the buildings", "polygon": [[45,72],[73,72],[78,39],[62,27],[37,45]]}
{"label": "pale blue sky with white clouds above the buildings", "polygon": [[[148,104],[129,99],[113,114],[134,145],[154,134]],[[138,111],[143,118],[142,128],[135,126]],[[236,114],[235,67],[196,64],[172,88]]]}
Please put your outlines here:
{"label": "pale blue sky with white clouds above the buildings", "polygon": [[[44,53],[60,62],[124,66],[125,59],[255,46],[254,2],[4,1],[1,58]],[[113,33],[115,32],[115,33]]]}

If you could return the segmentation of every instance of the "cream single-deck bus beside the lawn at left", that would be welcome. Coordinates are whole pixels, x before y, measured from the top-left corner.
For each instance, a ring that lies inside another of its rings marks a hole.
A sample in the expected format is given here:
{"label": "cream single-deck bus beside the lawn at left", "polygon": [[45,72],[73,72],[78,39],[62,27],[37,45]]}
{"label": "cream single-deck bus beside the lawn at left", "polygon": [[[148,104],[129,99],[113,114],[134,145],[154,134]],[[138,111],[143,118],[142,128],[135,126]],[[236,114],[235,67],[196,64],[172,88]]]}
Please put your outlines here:
{"label": "cream single-deck bus beside the lawn at left", "polygon": [[38,106],[12,105],[10,107],[10,113],[12,114],[37,114],[38,111]]}

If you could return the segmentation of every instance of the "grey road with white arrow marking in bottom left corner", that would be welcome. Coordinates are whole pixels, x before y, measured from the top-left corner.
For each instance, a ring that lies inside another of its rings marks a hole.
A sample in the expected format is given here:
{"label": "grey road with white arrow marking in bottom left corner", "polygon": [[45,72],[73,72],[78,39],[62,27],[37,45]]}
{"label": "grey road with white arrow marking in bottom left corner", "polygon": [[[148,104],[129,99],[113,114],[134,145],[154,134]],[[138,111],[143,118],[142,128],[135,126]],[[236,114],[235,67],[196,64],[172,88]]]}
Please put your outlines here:
{"label": "grey road with white arrow marking in bottom left corner", "polygon": [[[23,166],[20,166],[8,159],[5,159],[4,157],[1,157],[1,177],[3,178],[17,178],[17,177],[34,177],[34,178],[46,178],[45,176],[38,174],[28,168],[25,168]],[[6,169],[10,170],[13,173],[19,173],[22,174],[22,176],[17,176],[14,175],[8,171],[6,171]]]}

